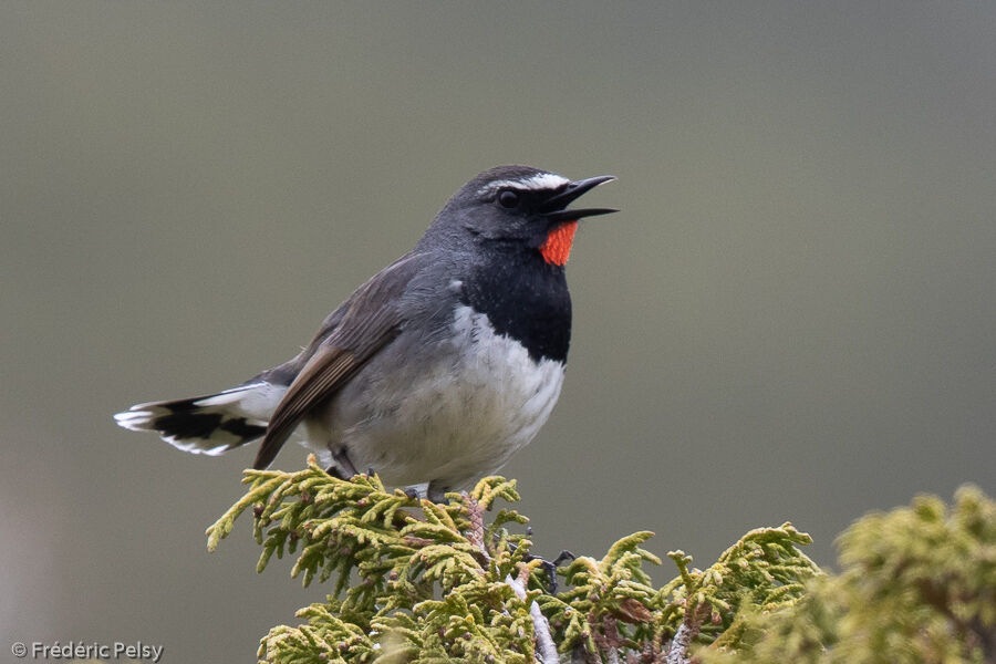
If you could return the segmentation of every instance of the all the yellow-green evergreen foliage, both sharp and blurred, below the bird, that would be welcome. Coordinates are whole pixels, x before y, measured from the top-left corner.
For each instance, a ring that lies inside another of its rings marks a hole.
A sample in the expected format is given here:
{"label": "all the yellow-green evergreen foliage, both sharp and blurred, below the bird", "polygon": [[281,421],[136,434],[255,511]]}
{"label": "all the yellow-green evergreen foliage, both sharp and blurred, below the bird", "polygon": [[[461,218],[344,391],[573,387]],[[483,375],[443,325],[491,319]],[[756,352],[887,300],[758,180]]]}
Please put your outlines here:
{"label": "all the yellow-green evergreen foliage, both sharp and blurred, below the bird", "polygon": [[260,662],[996,663],[996,504],[973,487],[951,509],[921,497],[859,520],[840,538],[839,575],[785,523],[751,530],[705,570],[672,551],[677,575],[655,587],[652,533],[636,532],[557,570],[553,593],[515,532],[527,519],[494,511],[518,500],[513,481],[485,478],[446,505],[330,477],[313,459],[243,481],[208,548],[251,508],[259,571],[293,554],[305,585],[334,580],[298,612],[307,622],[262,639]]}

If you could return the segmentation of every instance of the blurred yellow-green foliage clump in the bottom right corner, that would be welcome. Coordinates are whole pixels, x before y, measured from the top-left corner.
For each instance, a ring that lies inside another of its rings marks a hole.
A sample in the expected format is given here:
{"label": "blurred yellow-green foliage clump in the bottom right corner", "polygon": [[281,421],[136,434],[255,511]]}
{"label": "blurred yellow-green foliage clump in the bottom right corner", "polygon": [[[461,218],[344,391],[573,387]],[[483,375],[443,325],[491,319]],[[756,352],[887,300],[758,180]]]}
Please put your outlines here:
{"label": "blurred yellow-green foliage clump in the bottom right corner", "polygon": [[788,611],[746,611],[737,643],[704,662],[996,662],[996,502],[981,490],[869,515],[839,546],[840,575],[811,579]]}

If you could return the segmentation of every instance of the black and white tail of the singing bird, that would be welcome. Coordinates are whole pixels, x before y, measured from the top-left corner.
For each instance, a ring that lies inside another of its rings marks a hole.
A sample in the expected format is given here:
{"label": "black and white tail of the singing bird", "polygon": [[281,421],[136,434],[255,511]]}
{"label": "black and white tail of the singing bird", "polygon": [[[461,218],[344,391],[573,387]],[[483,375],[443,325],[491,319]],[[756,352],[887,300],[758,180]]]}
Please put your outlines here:
{"label": "black and white tail of the singing bird", "polygon": [[218,394],[136,404],[114,419],[133,432],[156,432],[177,449],[215,456],[261,437],[284,392],[286,385],[249,383]]}

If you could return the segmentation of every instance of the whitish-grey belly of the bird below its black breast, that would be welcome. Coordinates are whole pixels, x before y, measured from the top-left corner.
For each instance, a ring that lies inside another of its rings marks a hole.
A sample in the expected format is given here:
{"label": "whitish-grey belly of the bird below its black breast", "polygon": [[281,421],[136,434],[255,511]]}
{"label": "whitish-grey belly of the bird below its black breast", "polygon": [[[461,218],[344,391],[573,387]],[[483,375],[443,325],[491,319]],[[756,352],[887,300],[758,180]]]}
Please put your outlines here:
{"label": "whitish-grey belly of the bird below its black breast", "polygon": [[345,447],[357,470],[373,468],[396,486],[467,489],[501,468],[550,416],[563,364],[533,361],[469,307],[456,310],[453,331],[432,362],[382,365],[376,381],[357,376],[325,417],[309,422],[309,446],[325,459]]}

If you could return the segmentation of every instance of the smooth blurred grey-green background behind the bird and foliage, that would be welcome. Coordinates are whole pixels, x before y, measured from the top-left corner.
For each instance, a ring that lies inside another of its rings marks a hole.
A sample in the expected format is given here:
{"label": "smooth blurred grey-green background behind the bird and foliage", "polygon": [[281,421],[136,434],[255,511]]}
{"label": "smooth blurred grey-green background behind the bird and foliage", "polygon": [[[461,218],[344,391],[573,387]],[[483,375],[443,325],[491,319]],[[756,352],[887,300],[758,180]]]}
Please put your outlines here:
{"label": "smooth blurred grey-green background behind the bird and foliage", "polygon": [[832,564],[868,510],[996,490],[996,4],[4,2],[0,90],[4,653],[252,661],[321,600],[249,519],[205,550],[255,448],[111,415],[290,357],[502,163],[623,210],[506,468],[539,552],[791,520]]}

